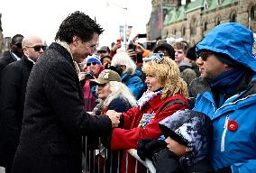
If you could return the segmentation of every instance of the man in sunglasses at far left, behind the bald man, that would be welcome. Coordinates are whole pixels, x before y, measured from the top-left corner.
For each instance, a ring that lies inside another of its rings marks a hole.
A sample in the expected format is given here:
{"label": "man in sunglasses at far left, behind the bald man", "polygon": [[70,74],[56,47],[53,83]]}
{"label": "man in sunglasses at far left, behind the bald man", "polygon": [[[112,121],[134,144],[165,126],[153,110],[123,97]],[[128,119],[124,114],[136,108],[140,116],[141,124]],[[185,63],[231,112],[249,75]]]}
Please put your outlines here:
{"label": "man in sunglasses at far left, behind the bald man", "polygon": [[19,60],[23,57],[22,41],[23,35],[16,34],[11,41],[11,50],[4,52],[3,56],[0,58],[0,76],[3,69],[10,63]]}

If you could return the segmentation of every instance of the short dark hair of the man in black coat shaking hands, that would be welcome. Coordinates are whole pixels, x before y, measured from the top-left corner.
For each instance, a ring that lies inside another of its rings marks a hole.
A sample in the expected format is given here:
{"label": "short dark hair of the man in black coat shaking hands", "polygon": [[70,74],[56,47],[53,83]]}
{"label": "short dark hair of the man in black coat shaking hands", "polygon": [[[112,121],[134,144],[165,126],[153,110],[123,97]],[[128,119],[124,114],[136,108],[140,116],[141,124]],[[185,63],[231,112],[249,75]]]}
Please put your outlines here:
{"label": "short dark hair of the man in black coat shaking hands", "polygon": [[78,36],[84,42],[90,41],[93,38],[94,32],[101,34],[104,30],[87,14],[77,11],[69,14],[60,24],[55,41],[59,40],[71,43],[73,36]]}

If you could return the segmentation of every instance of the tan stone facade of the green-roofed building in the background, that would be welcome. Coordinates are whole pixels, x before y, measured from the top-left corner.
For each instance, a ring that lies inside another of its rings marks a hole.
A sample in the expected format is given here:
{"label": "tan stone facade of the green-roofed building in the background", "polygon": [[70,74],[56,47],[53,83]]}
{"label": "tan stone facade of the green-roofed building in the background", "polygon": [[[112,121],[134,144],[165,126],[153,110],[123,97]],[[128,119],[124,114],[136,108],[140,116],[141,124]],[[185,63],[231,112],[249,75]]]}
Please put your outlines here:
{"label": "tan stone facade of the green-roofed building in the background", "polygon": [[[214,0],[213,0],[214,1]],[[154,0],[154,5],[160,0]],[[256,15],[255,0],[239,0],[231,5],[220,6],[215,10],[204,10],[204,7],[187,12],[186,20],[165,25],[162,29],[162,38],[182,37],[193,46],[201,41],[218,23],[233,22],[242,23],[252,32],[256,32],[256,18],[250,20],[251,7],[254,6]]]}

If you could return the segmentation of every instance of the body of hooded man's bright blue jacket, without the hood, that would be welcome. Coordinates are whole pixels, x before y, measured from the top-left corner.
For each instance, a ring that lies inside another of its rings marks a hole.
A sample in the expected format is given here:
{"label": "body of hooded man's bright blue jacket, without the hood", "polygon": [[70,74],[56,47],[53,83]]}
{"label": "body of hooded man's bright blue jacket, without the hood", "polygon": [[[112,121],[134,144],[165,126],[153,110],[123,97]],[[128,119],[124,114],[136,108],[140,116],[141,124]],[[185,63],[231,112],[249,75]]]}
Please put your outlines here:
{"label": "body of hooded man's bright blue jacket, without the hood", "polygon": [[210,116],[214,127],[211,160],[215,170],[231,166],[233,173],[256,172],[256,75],[250,85],[219,108],[211,90],[197,94],[193,110]]}

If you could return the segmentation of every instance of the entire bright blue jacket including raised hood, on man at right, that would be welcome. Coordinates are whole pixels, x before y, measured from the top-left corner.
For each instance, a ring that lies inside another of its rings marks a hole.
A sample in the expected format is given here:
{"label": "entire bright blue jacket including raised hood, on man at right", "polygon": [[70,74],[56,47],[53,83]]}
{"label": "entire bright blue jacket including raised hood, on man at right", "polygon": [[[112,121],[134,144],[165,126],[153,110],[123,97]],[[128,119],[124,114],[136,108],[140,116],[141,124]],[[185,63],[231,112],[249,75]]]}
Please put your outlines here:
{"label": "entire bright blue jacket including raised hood, on man at right", "polygon": [[[240,23],[223,23],[197,44],[197,52],[211,50],[256,72],[252,54],[253,35]],[[197,78],[194,110],[213,122],[211,159],[215,170],[231,166],[233,173],[256,172],[256,75],[242,92],[229,97],[218,108],[206,80]]]}

